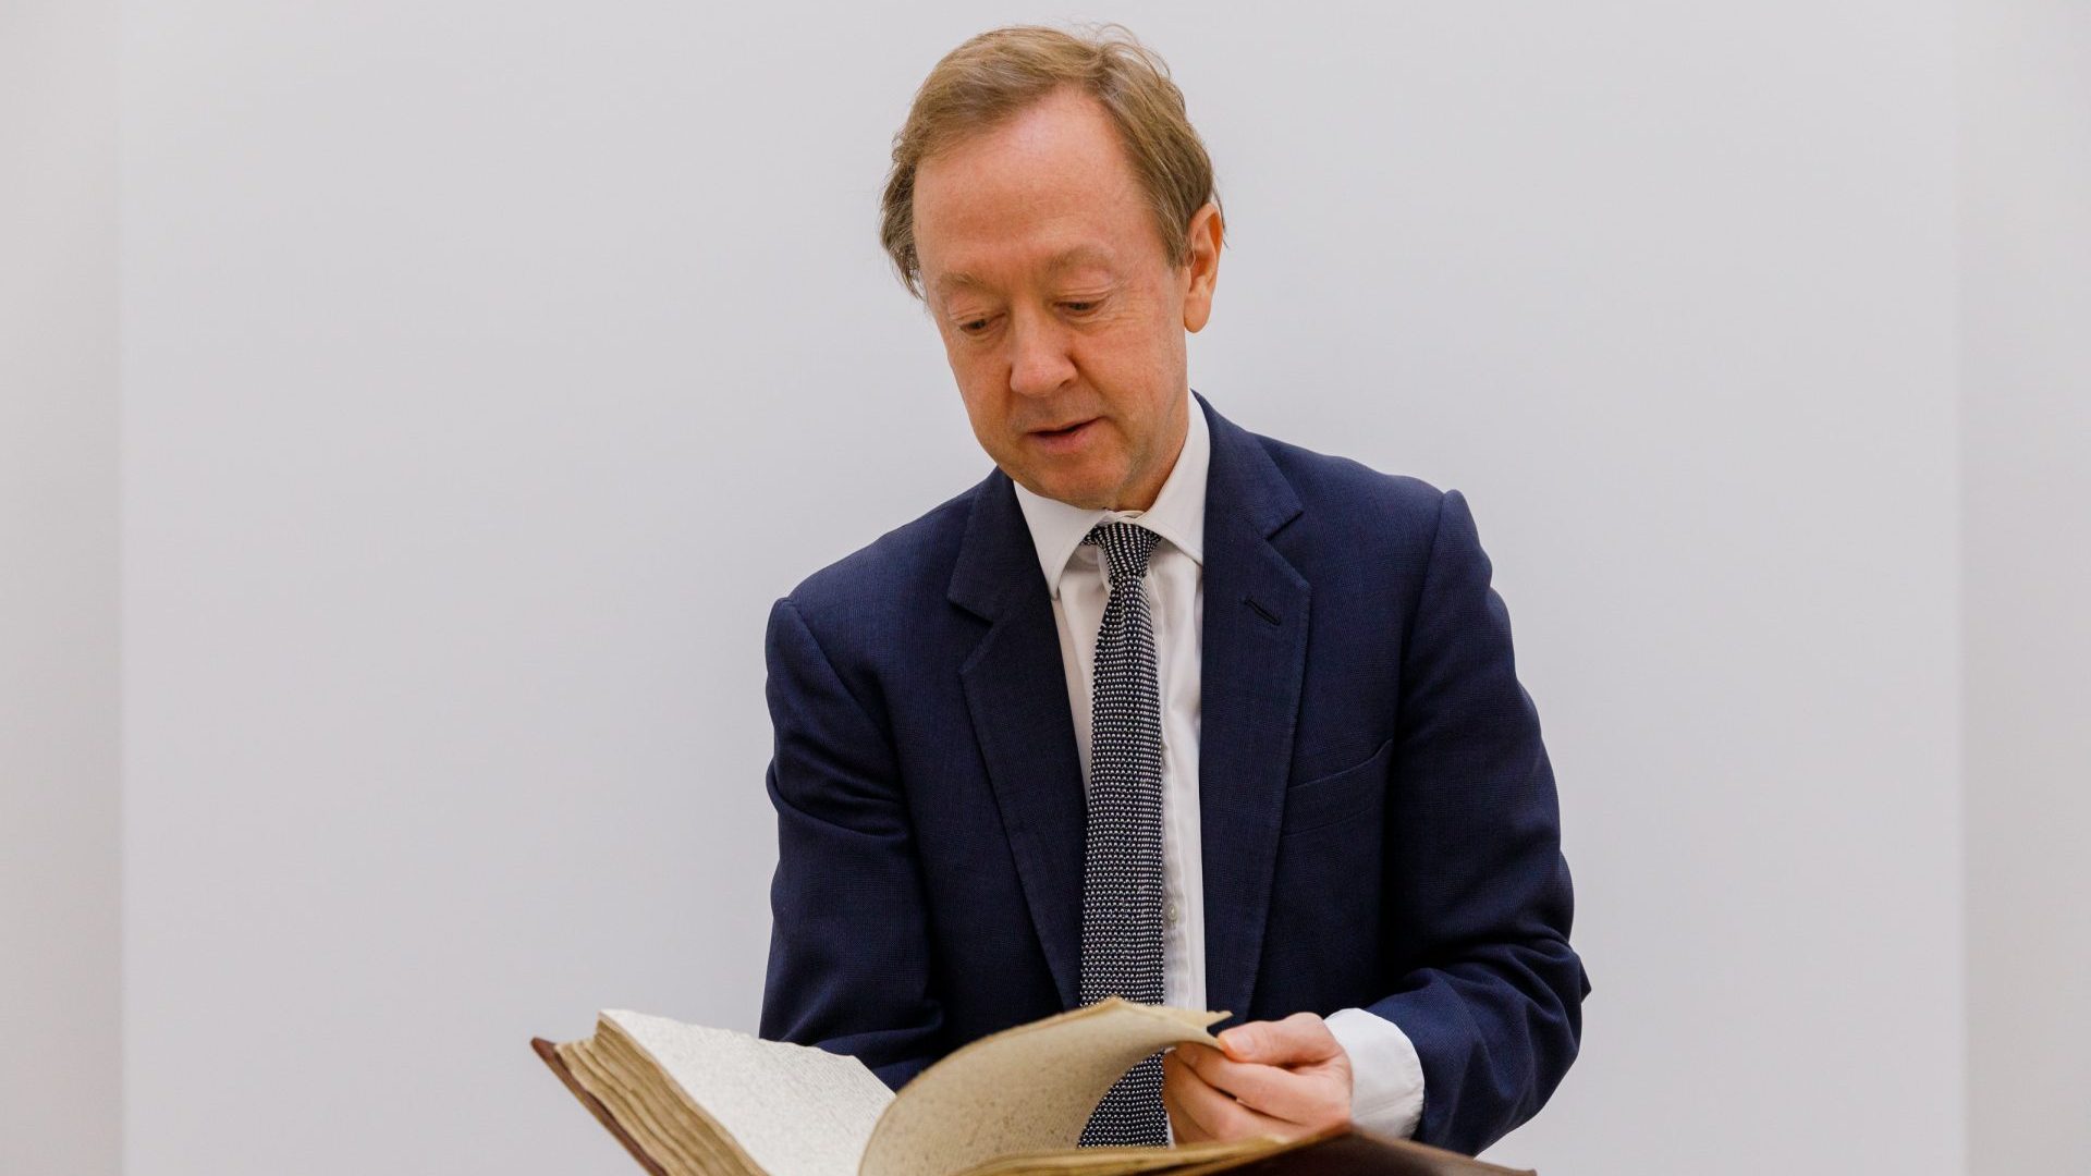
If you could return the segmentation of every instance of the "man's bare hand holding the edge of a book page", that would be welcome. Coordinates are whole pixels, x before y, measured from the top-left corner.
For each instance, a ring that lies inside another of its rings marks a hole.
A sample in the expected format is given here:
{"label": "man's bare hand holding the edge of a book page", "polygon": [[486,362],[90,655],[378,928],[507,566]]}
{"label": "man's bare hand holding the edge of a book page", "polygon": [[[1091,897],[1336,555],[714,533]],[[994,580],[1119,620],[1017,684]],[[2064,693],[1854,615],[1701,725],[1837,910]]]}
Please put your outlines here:
{"label": "man's bare hand holding the edge of a book page", "polygon": [[1351,1122],[1351,1055],[1322,1017],[1248,1021],[1219,1034],[1219,1046],[1184,1042],[1163,1055],[1177,1143],[1294,1138]]}

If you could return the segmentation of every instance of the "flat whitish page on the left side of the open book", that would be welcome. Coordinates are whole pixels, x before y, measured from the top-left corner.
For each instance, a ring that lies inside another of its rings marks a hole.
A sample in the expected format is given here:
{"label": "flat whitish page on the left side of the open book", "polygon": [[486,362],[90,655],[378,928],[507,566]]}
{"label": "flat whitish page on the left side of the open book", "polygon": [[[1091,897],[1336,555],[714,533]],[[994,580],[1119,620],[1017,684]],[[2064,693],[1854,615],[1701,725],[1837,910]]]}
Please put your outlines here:
{"label": "flat whitish page on the left side of the open book", "polygon": [[608,1009],[615,1032],[667,1073],[769,1176],[855,1176],[893,1090],[847,1055]]}

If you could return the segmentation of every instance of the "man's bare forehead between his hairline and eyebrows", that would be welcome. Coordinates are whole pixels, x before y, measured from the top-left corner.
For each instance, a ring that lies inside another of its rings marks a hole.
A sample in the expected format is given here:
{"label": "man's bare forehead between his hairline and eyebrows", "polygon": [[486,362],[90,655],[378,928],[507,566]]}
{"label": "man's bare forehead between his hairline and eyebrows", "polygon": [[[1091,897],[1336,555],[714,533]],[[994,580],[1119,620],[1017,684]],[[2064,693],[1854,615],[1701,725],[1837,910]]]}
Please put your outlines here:
{"label": "man's bare forehead between his hairline and eyebrows", "polygon": [[914,232],[937,293],[1163,262],[1110,115],[1075,90],[924,159]]}

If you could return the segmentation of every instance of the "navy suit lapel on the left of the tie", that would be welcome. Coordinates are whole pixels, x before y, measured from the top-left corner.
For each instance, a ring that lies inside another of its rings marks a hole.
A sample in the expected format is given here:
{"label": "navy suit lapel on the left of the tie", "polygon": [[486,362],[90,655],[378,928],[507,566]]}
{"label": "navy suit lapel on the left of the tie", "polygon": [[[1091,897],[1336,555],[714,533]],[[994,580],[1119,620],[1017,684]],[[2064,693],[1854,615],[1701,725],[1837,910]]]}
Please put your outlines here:
{"label": "navy suit lapel on the left of the tie", "polygon": [[981,483],[949,598],[989,621],[960,668],[987,778],[1060,1007],[1081,992],[1085,797],[1060,630],[1008,475]]}

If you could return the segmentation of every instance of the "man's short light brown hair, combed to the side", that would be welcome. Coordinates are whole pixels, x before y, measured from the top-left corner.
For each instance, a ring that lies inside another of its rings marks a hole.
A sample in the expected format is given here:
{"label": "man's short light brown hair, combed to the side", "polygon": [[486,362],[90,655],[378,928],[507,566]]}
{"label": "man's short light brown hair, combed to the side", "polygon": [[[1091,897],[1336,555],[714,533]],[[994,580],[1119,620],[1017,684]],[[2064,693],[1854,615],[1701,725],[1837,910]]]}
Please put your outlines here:
{"label": "man's short light brown hair, combed to the side", "polygon": [[914,241],[916,169],[930,155],[993,130],[1062,86],[1079,88],[1110,113],[1154,211],[1169,266],[1186,262],[1190,218],[1207,201],[1219,205],[1219,190],[1213,188],[1213,159],[1184,115],[1184,92],[1169,80],[1169,67],[1125,25],[1098,25],[1083,33],[1010,25],[943,54],[893,136],[878,239],[907,293],[922,297],[922,262]]}

